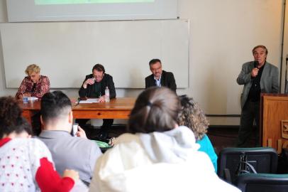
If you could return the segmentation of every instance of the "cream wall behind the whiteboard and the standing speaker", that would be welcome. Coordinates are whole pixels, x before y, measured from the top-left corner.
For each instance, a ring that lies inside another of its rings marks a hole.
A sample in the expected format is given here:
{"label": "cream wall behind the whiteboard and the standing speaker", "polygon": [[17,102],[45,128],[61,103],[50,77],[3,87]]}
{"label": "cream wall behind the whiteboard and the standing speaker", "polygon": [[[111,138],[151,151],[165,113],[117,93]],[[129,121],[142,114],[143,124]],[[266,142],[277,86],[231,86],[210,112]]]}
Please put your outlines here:
{"label": "cream wall behind the whiteboard and the standing speaker", "polygon": [[[190,20],[190,50],[189,88],[177,93],[194,97],[206,114],[240,114],[243,87],[236,78],[241,65],[253,60],[252,48],[258,44],[267,46],[267,60],[280,67],[282,1],[179,0],[179,17]],[[0,1],[0,22],[7,22],[4,1]],[[285,42],[287,31],[286,26]],[[5,87],[1,54],[0,51],[0,95],[13,95],[16,90]],[[77,97],[78,90],[64,91]],[[116,90],[118,97],[137,97],[140,91]],[[213,117],[211,124],[239,124],[239,119]]]}

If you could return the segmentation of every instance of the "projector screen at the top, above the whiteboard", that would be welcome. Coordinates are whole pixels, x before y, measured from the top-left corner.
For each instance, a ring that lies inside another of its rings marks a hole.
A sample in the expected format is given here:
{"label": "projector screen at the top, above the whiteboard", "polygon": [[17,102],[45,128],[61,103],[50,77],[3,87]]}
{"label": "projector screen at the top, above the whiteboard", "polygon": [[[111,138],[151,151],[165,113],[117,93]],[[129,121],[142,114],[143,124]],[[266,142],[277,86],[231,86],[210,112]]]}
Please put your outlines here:
{"label": "projector screen at the top, above the whiteboard", "polygon": [[34,0],[7,1],[9,22],[117,21],[177,18],[177,0],[153,3],[35,5]]}

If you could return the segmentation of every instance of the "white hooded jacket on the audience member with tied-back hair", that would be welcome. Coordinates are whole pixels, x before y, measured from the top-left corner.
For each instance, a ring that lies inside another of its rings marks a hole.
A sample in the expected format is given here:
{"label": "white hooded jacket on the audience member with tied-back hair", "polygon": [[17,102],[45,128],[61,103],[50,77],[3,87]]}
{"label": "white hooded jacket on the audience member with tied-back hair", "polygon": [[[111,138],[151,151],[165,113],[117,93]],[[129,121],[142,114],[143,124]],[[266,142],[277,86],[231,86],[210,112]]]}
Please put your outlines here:
{"label": "white hooded jacket on the audience member with tied-back hair", "polygon": [[96,162],[89,191],[237,191],[215,174],[209,156],[187,127],[122,134]]}

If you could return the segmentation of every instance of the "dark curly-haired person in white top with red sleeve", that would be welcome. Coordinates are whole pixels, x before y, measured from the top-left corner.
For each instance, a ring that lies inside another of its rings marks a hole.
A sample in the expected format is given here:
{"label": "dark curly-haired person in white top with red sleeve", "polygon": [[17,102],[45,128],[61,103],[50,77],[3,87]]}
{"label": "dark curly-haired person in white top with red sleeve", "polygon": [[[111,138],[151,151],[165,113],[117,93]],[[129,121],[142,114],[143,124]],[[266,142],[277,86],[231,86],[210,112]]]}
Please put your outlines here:
{"label": "dark curly-haired person in white top with red sleeve", "polygon": [[70,191],[78,173],[57,174],[47,146],[27,139],[31,127],[21,112],[13,97],[0,97],[0,191]]}

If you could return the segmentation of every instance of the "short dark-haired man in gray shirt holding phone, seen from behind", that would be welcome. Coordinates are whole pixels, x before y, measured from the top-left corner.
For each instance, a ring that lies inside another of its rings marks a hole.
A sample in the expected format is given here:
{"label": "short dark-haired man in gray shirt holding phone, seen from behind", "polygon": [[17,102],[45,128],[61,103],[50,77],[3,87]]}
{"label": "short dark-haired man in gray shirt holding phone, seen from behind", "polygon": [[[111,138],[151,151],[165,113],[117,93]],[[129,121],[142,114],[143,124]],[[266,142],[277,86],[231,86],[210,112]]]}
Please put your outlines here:
{"label": "short dark-haired man in gray shirt holding phone, seen from behind", "polygon": [[95,162],[102,153],[81,127],[78,127],[79,137],[72,137],[72,105],[67,95],[54,91],[42,97],[41,122],[43,131],[38,139],[50,149],[58,173],[69,167],[79,171],[82,181],[90,183]]}

